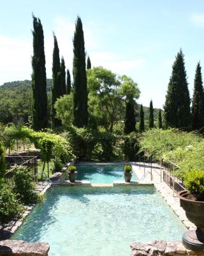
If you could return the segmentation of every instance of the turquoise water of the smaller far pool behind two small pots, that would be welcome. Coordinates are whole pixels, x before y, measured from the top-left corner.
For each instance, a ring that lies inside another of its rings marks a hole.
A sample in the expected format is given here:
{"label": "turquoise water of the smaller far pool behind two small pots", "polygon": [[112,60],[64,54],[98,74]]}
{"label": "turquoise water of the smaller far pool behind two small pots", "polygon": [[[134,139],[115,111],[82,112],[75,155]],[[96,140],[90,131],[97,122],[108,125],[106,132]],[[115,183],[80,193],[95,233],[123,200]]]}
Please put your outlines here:
{"label": "turquoise water of the smaller far pool behind two small pots", "polygon": [[[113,183],[116,180],[124,180],[124,165],[77,165],[77,180],[89,180],[91,183]],[[137,181],[133,173],[132,181]]]}

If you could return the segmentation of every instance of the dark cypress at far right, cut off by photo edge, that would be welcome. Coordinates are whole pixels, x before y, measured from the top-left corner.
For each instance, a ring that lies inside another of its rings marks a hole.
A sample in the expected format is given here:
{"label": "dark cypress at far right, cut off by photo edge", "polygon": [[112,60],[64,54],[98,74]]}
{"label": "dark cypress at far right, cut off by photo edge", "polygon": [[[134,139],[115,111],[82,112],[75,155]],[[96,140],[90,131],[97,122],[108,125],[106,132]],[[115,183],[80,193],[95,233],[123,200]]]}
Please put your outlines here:
{"label": "dark cypress at far right, cut off by photo edge", "polygon": [[204,92],[200,62],[196,66],[191,115],[193,129],[204,131]]}

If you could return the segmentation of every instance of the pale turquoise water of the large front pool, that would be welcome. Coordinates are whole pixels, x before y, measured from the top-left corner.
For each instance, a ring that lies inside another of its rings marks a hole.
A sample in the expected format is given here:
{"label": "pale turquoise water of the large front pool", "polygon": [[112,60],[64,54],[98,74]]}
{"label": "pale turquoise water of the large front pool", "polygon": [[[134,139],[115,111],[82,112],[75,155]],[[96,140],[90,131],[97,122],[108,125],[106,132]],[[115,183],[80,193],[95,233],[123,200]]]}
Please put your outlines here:
{"label": "pale turquoise water of the large front pool", "polygon": [[133,241],[186,230],[152,186],[55,187],[11,239],[46,241],[49,256],[128,256]]}

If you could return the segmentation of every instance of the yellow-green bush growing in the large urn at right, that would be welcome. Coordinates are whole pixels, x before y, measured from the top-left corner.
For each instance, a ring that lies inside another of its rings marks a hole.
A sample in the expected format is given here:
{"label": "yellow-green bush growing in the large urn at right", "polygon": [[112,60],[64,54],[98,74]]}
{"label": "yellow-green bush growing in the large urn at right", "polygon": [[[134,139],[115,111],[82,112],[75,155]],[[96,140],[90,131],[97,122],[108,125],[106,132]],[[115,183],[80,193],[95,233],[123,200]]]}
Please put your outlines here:
{"label": "yellow-green bush growing in the large urn at right", "polygon": [[204,201],[204,171],[191,170],[184,174],[184,185],[191,195]]}

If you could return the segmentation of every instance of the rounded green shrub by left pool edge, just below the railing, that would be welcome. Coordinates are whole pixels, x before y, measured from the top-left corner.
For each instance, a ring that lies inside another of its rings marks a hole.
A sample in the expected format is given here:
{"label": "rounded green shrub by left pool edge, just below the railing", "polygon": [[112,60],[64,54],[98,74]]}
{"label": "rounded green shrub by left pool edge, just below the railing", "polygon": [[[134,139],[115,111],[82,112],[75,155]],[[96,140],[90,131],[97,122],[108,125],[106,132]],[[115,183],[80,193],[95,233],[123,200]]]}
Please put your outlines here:
{"label": "rounded green shrub by left pool edge, just below the railing", "polygon": [[38,193],[34,192],[36,184],[33,182],[33,174],[29,169],[20,166],[13,176],[13,191],[23,204],[31,204],[42,200]]}

